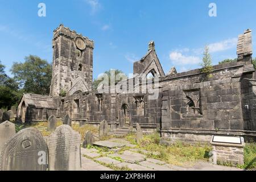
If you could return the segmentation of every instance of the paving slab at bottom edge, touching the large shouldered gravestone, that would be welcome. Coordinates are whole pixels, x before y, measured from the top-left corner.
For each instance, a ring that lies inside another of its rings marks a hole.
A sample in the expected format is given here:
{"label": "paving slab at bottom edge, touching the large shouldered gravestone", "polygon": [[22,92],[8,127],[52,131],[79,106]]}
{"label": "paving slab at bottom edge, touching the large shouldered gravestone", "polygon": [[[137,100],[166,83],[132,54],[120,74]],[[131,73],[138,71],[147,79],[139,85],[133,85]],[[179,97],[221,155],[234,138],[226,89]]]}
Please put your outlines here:
{"label": "paving slab at bottom edge, touching the large shouldered gravestone", "polygon": [[101,164],[98,164],[91,159],[82,157],[81,160],[82,160],[82,169],[81,169],[82,171],[113,171],[113,169],[102,166]]}

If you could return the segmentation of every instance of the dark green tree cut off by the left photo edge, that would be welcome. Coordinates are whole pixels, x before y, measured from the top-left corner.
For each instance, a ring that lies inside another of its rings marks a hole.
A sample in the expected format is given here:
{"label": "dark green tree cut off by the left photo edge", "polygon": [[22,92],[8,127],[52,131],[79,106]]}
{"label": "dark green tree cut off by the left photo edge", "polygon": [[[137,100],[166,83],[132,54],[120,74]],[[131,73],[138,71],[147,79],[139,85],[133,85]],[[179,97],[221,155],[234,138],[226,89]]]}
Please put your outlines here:
{"label": "dark green tree cut off by the left photo edge", "polygon": [[18,90],[18,83],[5,73],[5,65],[0,61],[0,109],[10,109],[17,106],[22,94]]}

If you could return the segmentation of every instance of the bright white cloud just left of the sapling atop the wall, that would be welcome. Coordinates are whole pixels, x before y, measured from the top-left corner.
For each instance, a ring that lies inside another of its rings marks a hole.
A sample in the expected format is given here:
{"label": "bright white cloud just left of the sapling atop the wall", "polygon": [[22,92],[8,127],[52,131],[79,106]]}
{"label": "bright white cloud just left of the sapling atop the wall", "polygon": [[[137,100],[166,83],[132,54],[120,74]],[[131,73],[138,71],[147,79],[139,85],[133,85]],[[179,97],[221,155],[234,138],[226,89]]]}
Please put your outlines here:
{"label": "bright white cloud just left of the sapling atop the wall", "polygon": [[200,57],[183,55],[181,51],[172,51],[169,57],[177,65],[199,64],[201,61]]}

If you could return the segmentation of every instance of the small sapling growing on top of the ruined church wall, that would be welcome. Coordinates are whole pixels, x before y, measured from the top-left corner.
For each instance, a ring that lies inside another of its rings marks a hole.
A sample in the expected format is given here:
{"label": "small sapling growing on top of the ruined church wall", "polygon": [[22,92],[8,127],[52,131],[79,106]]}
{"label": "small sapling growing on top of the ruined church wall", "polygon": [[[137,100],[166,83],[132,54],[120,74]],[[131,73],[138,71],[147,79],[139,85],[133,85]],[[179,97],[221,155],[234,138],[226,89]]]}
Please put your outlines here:
{"label": "small sapling growing on top of the ruined church wall", "polygon": [[201,69],[201,72],[207,73],[208,77],[212,77],[212,74],[211,74],[213,70],[212,57],[210,56],[208,46],[205,46],[203,55],[204,55],[203,63],[200,64],[203,67]]}

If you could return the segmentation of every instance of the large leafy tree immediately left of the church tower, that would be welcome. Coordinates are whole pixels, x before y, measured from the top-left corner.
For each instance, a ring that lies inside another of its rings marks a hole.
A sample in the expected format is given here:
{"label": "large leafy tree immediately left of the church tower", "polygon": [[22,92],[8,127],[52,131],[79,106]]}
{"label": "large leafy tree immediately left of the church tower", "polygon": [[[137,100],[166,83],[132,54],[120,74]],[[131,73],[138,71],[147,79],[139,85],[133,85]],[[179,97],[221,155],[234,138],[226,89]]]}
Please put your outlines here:
{"label": "large leafy tree immediately left of the church tower", "polygon": [[14,63],[11,72],[26,93],[49,94],[52,66],[38,56],[25,57],[24,63]]}

